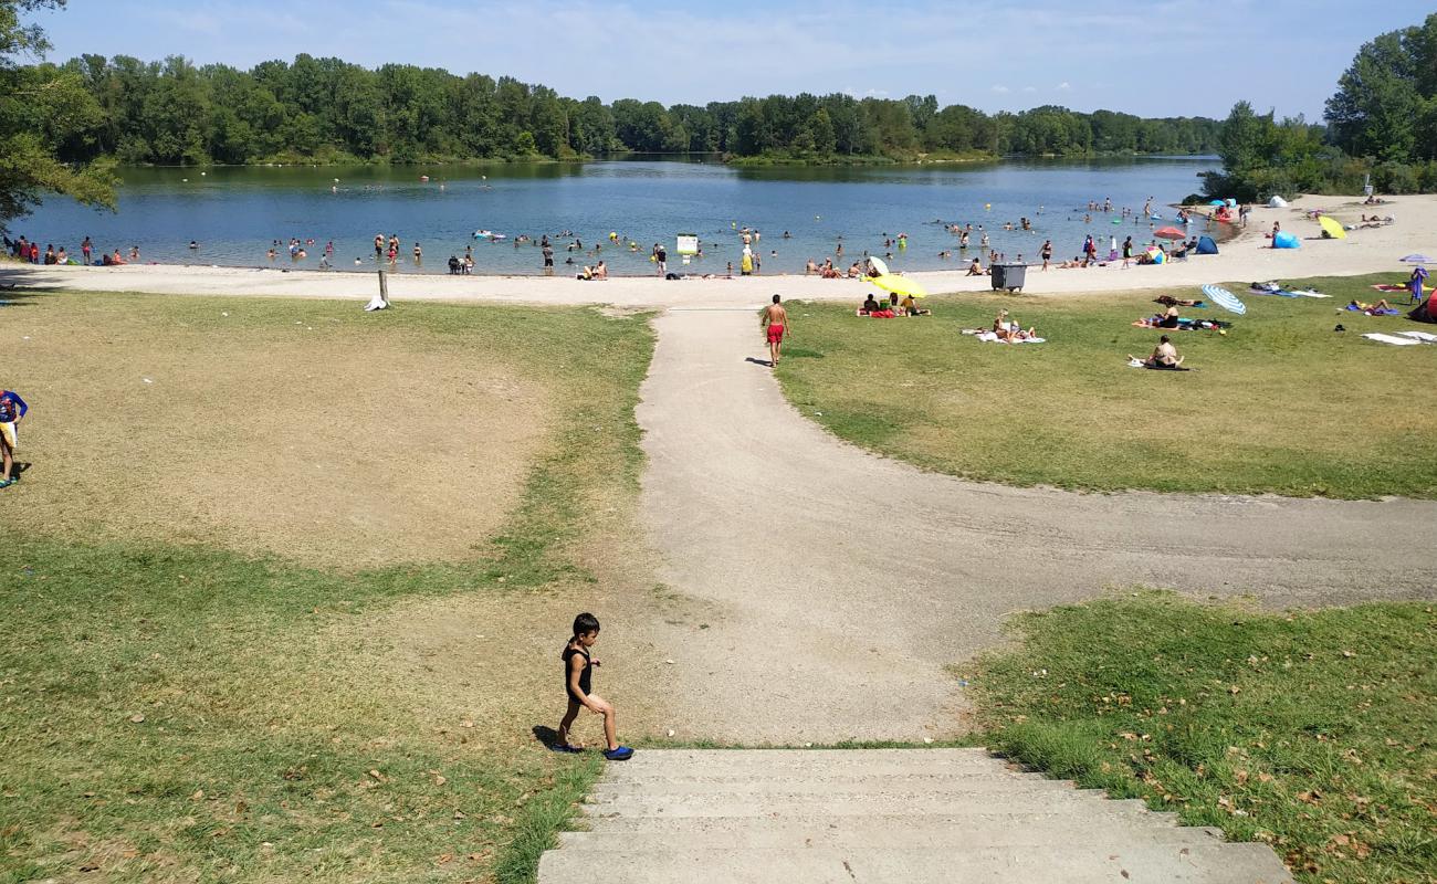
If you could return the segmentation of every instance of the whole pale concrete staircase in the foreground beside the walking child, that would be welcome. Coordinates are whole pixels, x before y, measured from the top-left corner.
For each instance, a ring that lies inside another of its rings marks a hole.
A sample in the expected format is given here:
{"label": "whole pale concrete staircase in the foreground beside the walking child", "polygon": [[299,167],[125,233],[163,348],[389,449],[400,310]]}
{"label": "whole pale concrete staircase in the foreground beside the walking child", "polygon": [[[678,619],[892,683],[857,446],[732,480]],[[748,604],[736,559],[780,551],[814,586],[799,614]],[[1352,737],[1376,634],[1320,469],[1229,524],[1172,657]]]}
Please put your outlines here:
{"label": "whole pale concrete staircase in the foreground beside the walking child", "polygon": [[641,750],[583,809],[539,884],[1292,881],[1263,844],[980,749]]}

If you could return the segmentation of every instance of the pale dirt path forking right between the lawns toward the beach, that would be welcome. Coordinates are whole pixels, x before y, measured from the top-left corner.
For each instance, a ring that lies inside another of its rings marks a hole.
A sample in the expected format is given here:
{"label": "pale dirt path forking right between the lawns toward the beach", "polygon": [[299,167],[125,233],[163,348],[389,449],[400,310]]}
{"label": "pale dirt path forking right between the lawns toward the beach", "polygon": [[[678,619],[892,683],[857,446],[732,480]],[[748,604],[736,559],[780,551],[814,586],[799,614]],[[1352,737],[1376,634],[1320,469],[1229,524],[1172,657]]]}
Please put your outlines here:
{"label": "pale dirt path forking right between the lawns toward the beach", "polygon": [[[782,397],[752,310],[671,310],[638,420],[681,737],[915,740],[961,727],[947,664],[1004,615],[1148,584],[1263,604],[1437,598],[1437,503],[1075,494],[923,473]],[[1408,543],[1404,538],[1411,538]]]}

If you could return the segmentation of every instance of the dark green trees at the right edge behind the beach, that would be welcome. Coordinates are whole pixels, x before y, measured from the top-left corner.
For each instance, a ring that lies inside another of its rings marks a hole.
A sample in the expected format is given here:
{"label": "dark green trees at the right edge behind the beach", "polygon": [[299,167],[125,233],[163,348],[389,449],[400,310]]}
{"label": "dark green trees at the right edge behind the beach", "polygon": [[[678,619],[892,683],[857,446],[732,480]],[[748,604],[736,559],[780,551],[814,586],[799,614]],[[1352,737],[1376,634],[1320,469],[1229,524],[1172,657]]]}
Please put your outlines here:
{"label": "dark green trees at the right edge behind the beach", "polygon": [[1209,195],[1437,193],[1437,13],[1364,45],[1326,103],[1326,124],[1283,121],[1237,102],[1223,124],[1223,171]]}

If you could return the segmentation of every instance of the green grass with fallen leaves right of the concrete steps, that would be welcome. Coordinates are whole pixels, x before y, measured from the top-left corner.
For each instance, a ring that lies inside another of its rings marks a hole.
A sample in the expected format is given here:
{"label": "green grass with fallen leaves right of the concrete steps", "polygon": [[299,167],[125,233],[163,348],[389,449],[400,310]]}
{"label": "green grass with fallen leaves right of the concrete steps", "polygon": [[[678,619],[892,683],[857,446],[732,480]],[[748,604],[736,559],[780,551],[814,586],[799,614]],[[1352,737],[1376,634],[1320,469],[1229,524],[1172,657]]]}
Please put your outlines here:
{"label": "green grass with fallen leaves right of the concrete steps", "polygon": [[1302,881],[1437,878],[1437,612],[1257,614],[1170,594],[1026,614],[973,678],[989,746]]}

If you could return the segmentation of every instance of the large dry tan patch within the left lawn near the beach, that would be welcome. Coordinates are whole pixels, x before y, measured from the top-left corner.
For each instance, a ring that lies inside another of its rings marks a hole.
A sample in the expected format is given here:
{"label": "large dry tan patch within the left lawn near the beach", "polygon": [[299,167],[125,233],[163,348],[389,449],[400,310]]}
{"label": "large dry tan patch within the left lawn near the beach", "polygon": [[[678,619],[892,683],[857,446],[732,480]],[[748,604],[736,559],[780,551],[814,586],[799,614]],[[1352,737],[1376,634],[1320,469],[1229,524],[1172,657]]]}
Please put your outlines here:
{"label": "large dry tan patch within the left lawn near the beach", "polygon": [[480,338],[295,312],[17,312],[6,384],[36,467],[14,523],[342,566],[471,556],[547,444],[543,382]]}

